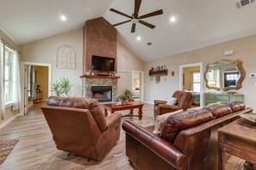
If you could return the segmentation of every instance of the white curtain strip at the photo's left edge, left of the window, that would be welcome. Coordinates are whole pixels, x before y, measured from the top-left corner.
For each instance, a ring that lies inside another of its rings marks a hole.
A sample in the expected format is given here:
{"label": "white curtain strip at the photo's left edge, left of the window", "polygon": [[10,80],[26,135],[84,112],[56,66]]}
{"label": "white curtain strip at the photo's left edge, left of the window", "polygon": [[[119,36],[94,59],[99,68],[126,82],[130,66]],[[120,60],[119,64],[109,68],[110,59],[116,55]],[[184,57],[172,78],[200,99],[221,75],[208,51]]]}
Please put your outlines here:
{"label": "white curtain strip at the photo's left edge, left of the window", "polygon": [[4,106],[4,91],[3,91],[3,43],[0,41],[0,117],[3,120],[4,118],[4,112],[5,112],[5,106]]}

